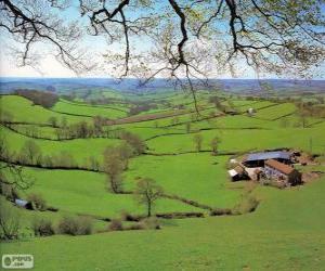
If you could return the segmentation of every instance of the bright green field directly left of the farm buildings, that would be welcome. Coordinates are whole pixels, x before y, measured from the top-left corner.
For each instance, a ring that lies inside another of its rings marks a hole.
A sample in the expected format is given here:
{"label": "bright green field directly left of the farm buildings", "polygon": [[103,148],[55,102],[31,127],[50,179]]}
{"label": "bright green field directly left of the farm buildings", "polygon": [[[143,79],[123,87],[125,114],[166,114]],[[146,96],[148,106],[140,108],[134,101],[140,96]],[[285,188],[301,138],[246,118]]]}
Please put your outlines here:
{"label": "bright green field directly left of the farm buildings", "polygon": [[231,208],[239,202],[240,193],[225,188],[225,183],[229,182],[225,170],[227,159],[229,157],[214,157],[206,153],[140,156],[132,159],[126,173],[127,188],[132,189],[134,180],[139,177],[150,177],[168,194],[212,207]]}

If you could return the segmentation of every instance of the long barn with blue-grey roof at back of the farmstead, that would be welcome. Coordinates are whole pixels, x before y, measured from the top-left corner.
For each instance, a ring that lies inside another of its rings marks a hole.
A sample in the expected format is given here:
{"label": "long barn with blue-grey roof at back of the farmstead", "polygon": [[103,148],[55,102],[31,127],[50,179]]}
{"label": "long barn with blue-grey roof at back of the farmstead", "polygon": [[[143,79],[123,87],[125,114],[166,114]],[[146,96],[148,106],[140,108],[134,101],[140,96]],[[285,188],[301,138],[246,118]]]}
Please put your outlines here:
{"label": "long barn with blue-grey roof at back of the farmstead", "polygon": [[290,164],[291,154],[285,151],[251,153],[247,155],[243,163],[246,167],[264,167],[264,162],[269,159],[275,159],[284,164]]}

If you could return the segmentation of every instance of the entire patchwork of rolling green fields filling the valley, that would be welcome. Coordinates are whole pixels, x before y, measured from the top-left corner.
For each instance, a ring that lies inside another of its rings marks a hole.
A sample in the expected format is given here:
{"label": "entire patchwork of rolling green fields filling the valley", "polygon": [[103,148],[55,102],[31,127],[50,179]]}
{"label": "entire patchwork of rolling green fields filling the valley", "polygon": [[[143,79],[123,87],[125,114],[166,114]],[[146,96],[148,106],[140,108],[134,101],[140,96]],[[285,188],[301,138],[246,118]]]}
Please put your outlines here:
{"label": "entire patchwork of rolling green fields filling the valley", "polygon": [[[77,95],[74,102],[61,99],[49,109],[22,96],[2,95],[1,113],[10,113],[13,124],[1,125],[0,131],[11,158],[18,157],[26,142],[32,141],[43,156],[70,156],[75,166],[50,169],[25,165],[23,172],[34,184],[20,196],[27,198],[37,193],[57,211],[25,210],[8,203],[8,208],[17,211],[23,221],[22,238],[2,242],[1,253],[31,254],[35,270],[53,271],[323,270],[324,118],[309,116],[303,127],[299,108],[291,102],[250,101],[239,96],[227,96],[222,102],[237,111],[237,115],[230,115],[209,101],[218,94],[199,92],[200,115],[194,117],[192,96],[170,90],[141,95],[102,91],[93,93],[93,98]],[[116,103],[88,103],[101,96],[115,99]],[[156,109],[139,113],[151,119],[139,121],[135,115],[128,124],[118,122],[140,101],[157,103]],[[184,107],[177,120],[176,116],[161,117],[164,112],[174,112],[176,105]],[[246,114],[250,107],[257,111],[252,116]],[[56,137],[60,126],[50,126],[52,116],[58,120],[65,117],[68,125],[83,120],[92,124],[93,116],[115,119],[116,124],[104,125],[105,128],[128,131],[144,140],[145,152],[130,158],[121,175],[123,190],[130,193],[113,193],[107,176],[101,170],[104,150],[125,140],[95,136],[61,140]],[[37,129],[38,138],[28,133],[30,126]],[[197,134],[203,139],[199,152],[194,144]],[[216,137],[218,153],[211,155],[210,142]],[[317,155],[317,163],[300,168],[317,171],[317,178],[284,190],[251,181],[230,181],[226,171],[230,158],[245,152],[282,147]],[[99,171],[88,168],[91,158],[99,164]],[[157,201],[154,214],[198,212],[203,217],[159,218],[160,230],[108,231],[109,220],[120,218],[122,212],[146,214],[131,193],[141,178],[154,179],[164,190],[165,196]],[[252,212],[210,216],[216,208],[245,209],[251,197],[259,203]],[[35,217],[50,219],[57,225],[66,215],[90,217],[94,223],[92,234],[32,235],[30,224]]]}

